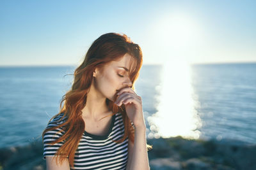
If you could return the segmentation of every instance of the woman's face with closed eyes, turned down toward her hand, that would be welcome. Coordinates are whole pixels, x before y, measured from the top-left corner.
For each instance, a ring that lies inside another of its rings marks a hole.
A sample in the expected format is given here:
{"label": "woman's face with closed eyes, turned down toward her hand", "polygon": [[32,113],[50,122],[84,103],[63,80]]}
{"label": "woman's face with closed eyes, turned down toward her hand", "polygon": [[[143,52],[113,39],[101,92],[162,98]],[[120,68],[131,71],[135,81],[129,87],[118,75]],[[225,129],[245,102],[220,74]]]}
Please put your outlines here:
{"label": "woman's face with closed eyes, turned down toward her hand", "polygon": [[102,69],[95,69],[95,72],[93,72],[95,89],[102,96],[115,101],[118,90],[132,86],[128,70],[131,57],[131,55],[125,53],[119,60],[105,64]]}

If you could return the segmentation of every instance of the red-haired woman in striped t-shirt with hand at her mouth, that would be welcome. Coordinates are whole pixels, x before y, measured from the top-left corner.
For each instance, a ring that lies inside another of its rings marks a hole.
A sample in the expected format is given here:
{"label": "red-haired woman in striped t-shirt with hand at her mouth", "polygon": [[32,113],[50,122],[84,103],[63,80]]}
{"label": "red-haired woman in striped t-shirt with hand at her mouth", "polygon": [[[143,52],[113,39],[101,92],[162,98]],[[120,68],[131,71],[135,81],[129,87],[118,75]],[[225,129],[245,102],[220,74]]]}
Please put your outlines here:
{"label": "red-haired woman in striped t-shirt with hand at her mouth", "polygon": [[92,43],[42,134],[48,170],[149,169],[151,146],[134,91],[142,61],[140,46],[125,34],[103,34]]}

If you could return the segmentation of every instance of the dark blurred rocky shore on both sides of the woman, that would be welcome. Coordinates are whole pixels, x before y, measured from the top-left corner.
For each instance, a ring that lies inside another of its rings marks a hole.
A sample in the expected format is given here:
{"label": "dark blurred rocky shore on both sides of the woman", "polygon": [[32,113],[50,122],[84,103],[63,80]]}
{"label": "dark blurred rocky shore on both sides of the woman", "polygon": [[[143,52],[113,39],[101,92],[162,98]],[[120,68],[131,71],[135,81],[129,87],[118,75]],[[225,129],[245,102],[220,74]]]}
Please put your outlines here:
{"label": "dark blurred rocky shore on both sides of the woman", "polygon": [[[150,169],[256,169],[256,145],[234,141],[148,139]],[[0,148],[0,170],[46,169],[42,141]]]}

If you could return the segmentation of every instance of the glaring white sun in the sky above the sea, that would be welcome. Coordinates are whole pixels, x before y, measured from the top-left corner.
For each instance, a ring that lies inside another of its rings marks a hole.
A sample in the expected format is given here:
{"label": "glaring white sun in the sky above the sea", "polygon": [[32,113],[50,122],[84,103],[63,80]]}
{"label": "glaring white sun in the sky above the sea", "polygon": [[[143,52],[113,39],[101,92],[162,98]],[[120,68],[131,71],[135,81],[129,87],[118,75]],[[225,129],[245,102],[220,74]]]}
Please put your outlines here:
{"label": "glaring white sun in the sky above the sea", "polygon": [[161,15],[154,21],[151,29],[155,39],[172,49],[189,48],[201,39],[198,22],[184,13]]}

